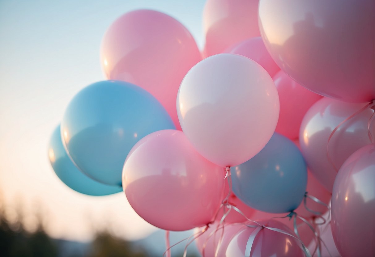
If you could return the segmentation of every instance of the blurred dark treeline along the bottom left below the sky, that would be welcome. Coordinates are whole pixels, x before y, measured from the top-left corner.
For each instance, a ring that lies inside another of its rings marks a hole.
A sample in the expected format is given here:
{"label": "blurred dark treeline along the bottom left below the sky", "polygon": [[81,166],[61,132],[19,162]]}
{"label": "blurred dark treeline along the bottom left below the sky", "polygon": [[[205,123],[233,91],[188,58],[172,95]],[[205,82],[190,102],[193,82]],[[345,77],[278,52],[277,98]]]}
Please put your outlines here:
{"label": "blurred dark treeline along the bottom left below the sky", "polygon": [[[40,206],[36,205],[33,229],[26,229],[22,203],[16,201],[16,210],[6,208],[0,191],[0,257],[154,257],[157,253],[147,253],[141,246],[111,235],[98,232],[90,244],[82,243],[73,251],[67,251],[75,242],[50,238],[44,230]],[[6,211],[12,215],[6,215]],[[11,218],[10,218],[11,217]],[[79,243],[80,244],[80,243]],[[81,248],[80,248],[81,247]],[[70,249],[71,250],[71,249]],[[183,256],[183,253],[176,256]],[[188,253],[187,257],[195,257]]]}

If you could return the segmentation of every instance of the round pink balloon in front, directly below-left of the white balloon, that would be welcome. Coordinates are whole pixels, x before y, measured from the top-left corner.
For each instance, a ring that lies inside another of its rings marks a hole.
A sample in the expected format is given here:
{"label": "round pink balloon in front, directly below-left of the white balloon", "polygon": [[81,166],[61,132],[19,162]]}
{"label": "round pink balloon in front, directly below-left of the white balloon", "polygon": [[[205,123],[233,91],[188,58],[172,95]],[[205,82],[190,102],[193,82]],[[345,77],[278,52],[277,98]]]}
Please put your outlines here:
{"label": "round pink balloon in front, directly below-left of the white balloon", "polygon": [[198,154],[182,131],[145,136],[129,152],[123,188],[148,223],[182,231],[210,223],[222,200],[224,169]]}

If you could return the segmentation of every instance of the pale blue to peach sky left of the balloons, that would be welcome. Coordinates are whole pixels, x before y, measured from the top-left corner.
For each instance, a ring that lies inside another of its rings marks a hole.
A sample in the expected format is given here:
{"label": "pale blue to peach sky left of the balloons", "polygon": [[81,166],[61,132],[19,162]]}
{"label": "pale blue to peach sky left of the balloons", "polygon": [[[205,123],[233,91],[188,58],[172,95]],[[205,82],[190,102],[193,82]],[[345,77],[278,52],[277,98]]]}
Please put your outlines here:
{"label": "pale blue to peach sky left of the balloons", "polygon": [[104,80],[99,49],[123,13],[153,9],[178,19],[203,45],[204,0],[0,0],[0,194],[7,215],[25,214],[30,229],[41,213],[55,238],[87,241],[110,229],[135,240],[153,231],[124,193],[91,197],[64,185],[47,147],[72,97]]}

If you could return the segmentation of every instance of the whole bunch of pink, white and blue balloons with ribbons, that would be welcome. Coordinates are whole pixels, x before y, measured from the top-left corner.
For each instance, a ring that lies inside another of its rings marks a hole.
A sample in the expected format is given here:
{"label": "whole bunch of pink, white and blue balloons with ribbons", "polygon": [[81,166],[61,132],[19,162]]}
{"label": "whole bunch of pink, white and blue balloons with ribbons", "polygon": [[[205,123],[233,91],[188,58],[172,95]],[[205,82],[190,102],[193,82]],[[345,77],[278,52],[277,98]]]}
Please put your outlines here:
{"label": "whole bunch of pink, white and blue balloons with ribbons", "polygon": [[71,100],[51,164],[84,194],[122,186],[166,235],[196,228],[203,256],[374,256],[374,13],[208,0],[202,54],[174,18],[126,13],[102,41],[109,80]]}

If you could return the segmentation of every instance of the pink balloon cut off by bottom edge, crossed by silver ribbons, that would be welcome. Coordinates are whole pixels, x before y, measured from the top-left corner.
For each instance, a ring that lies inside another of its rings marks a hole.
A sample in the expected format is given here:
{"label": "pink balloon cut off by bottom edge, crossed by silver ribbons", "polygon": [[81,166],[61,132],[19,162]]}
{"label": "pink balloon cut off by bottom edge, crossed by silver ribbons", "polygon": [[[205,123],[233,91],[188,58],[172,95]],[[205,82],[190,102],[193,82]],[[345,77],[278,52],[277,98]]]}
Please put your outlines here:
{"label": "pink balloon cut off by bottom edge, crossed by silver ribbons", "polygon": [[[258,221],[261,225],[284,230],[292,234],[284,224],[275,220]],[[245,255],[248,239],[256,228],[245,227],[240,230],[233,239],[229,242],[226,249],[226,256],[248,257]],[[292,234],[293,235],[293,234]],[[251,247],[250,257],[304,257],[303,251],[300,248],[300,242],[285,235],[281,232],[276,232],[266,228],[261,229]]]}

